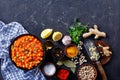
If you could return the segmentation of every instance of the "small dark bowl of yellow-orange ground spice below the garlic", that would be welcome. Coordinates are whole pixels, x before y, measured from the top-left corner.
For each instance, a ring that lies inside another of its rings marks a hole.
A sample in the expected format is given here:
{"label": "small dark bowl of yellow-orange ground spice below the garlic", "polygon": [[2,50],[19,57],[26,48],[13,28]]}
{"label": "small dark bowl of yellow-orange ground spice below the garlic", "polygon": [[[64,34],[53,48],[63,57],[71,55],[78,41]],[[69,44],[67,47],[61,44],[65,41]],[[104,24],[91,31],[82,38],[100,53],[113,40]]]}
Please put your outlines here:
{"label": "small dark bowl of yellow-orange ground spice below the garlic", "polygon": [[79,50],[75,44],[69,44],[65,47],[65,54],[69,58],[77,56]]}

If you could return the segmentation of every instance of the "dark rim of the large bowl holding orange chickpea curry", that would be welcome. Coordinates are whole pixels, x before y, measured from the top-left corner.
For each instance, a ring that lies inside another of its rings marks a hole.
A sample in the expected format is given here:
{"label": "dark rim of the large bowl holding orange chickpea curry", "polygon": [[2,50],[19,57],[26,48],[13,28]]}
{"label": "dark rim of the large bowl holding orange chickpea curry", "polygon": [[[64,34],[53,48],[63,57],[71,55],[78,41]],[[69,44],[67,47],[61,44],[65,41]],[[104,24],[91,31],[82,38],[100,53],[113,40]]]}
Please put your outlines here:
{"label": "dark rim of the large bowl holding orange chickpea curry", "polygon": [[43,43],[40,41],[40,43],[42,44],[42,48],[43,48],[43,57],[42,57],[43,59],[40,61],[40,63],[37,64],[37,66],[33,66],[33,67],[30,68],[30,69],[17,66],[16,63],[12,60],[12,57],[11,57],[11,52],[12,52],[12,51],[11,51],[11,47],[12,47],[12,45],[14,44],[14,42],[15,42],[16,40],[18,40],[19,38],[21,38],[21,37],[23,37],[23,36],[33,36],[33,37],[36,38],[38,41],[40,41],[39,38],[37,38],[37,37],[34,36],[33,34],[22,34],[22,35],[16,37],[16,38],[11,42],[11,44],[10,44],[10,46],[9,46],[9,55],[10,55],[10,59],[11,59],[12,63],[13,63],[17,68],[22,69],[22,70],[31,70],[31,69],[37,68],[38,66],[40,66],[40,65],[42,64],[43,59],[44,59],[44,57],[45,57],[44,47],[43,47]]}

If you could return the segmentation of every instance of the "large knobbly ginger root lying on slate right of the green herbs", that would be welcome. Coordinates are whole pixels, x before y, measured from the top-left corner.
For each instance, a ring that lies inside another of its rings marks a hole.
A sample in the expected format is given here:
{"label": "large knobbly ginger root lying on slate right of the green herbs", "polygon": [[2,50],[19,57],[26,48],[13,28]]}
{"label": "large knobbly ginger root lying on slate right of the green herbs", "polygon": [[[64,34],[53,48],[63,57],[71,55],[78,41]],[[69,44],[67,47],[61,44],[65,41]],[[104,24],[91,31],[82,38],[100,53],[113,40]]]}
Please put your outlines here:
{"label": "large knobbly ginger root lying on slate right of the green herbs", "polygon": [[94,25],[94,29],[90,28],[89,32],[83,34],[83,38],[88,38],[92,34],[95,35],[95,37],[94,37],[95,39],[98,39],[99,37],[106,37],[106,33],[99,31],[98,26]]}

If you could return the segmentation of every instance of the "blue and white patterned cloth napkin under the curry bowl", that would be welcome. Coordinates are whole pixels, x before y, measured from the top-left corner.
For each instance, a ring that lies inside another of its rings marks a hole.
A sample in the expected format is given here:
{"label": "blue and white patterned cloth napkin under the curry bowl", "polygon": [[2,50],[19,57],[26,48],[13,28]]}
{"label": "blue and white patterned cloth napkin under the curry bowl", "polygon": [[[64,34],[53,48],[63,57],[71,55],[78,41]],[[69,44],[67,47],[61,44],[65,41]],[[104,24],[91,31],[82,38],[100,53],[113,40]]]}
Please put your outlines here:
{"label": "blue and white patterned cloth napkin under the curry bowl", "polygon": [[35,75],[36,69],[29,71],[21,70],[10,60],[9,45],[11,44],[11,40],[26,33],[28,32],[18,22],[5,24],[0,21],[1,74],[4,80],[46,80],[41,71]]}

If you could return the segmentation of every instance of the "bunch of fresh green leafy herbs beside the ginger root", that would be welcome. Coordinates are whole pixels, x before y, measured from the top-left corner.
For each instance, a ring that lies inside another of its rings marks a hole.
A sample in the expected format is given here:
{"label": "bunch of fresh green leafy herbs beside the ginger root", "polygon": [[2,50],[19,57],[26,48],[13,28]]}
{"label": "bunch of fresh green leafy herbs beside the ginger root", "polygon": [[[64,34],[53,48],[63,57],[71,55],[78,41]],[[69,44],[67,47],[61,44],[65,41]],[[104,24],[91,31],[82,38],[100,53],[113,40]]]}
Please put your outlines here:
{"label": "bunch of fresh green leafy herbs beside the ginger root", "polygon": [[88,25],[82,25],[77,19],[74,19],[75,25],[70,26],[68,33],[75,44],[82,39],[82,34],[88,31]]}

